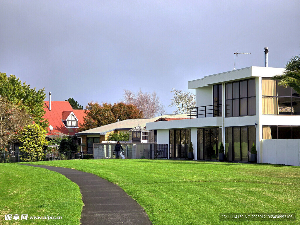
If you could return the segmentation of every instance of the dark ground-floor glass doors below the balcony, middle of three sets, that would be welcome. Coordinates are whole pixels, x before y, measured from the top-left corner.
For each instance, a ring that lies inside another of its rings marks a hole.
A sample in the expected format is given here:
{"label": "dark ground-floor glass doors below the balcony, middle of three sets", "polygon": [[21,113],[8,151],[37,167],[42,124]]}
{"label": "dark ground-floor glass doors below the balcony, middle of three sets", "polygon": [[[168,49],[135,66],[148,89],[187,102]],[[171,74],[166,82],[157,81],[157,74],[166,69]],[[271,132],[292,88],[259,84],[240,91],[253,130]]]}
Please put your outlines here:
{"label": "dark ground-floor glass doors below the balcony, middle of three sets", "polygon": [[218,160],[218,149],[222,142],[222,129],[197,129],[197,159]]}

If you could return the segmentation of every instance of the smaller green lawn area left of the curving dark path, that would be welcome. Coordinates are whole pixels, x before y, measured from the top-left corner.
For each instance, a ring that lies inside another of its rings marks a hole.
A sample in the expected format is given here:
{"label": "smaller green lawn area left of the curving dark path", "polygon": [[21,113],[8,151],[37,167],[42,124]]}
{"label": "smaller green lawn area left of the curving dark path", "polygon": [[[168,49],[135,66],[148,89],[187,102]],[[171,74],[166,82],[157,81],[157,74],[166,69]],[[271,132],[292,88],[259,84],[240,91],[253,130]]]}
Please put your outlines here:
{"label": "smaller green lawn area left of the curving dark path", "polygon": [[[83,202],[79,187],[60,173],[0,164],[0,193],[0,224],[80,224]],[[28,214],[28,220],[4,220],[5,214]],[[29,216],[62,219],[30,220]]]}

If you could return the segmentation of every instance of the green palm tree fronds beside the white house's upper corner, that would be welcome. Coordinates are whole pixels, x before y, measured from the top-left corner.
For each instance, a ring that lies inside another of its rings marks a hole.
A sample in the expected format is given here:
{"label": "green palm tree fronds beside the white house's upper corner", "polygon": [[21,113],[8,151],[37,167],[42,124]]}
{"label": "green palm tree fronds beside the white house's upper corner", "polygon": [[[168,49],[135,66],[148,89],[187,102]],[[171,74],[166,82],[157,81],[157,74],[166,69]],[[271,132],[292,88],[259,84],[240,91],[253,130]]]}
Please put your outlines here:
{"label": "green palm tree fronds beside the white house's upper corner", "polygon": [[279,80],[278,85],[293,88],[300,94],[300,57],[296,55],[286,65],[283,74],[277,74],[271,79]]}

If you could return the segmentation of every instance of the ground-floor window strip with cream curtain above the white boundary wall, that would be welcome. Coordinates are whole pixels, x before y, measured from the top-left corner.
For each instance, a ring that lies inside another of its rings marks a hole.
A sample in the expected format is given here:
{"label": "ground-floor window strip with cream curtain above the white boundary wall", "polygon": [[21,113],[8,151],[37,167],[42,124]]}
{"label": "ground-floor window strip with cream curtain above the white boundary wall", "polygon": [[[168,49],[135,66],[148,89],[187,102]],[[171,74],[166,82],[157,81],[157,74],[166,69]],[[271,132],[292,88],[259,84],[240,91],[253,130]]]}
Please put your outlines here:
{"label": "ground-floor window strip with cream curtain above the white boundary wall", "polygon": [[262,139],[300,139],[300,126],[262,126]]}

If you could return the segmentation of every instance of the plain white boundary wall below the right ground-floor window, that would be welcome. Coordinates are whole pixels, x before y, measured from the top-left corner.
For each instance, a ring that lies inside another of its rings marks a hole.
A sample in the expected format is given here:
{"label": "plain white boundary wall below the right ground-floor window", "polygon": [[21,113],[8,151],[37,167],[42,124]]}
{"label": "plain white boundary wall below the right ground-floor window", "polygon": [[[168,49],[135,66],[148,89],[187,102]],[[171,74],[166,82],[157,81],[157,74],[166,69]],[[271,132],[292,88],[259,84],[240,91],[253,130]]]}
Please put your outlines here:
{"label": "plain white boundary wall below the right ground-floor window", "polygon": [[300,139],[262,140],[262,163],[300,166]]}

